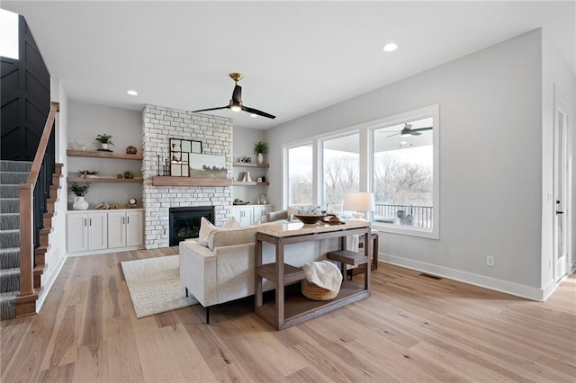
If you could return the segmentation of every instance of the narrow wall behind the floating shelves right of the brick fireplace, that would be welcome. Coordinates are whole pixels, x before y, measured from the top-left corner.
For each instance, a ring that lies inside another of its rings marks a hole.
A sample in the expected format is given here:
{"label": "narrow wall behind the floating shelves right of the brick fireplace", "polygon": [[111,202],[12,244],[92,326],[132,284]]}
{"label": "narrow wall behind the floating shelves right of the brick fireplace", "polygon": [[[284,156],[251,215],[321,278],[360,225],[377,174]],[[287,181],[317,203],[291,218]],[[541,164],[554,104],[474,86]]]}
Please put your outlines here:
{"label": "narrow wall behind the floating shelves right of the brick fireplace", "polygon": [[[256,163],[256,155],[254,154],[254,144],[258,141],[264,140],[264,130],[260,129],[249,129],[249,128],[238,128],[234,127],[233,129],[233,136],[234,136],[234,162],[238,162],[238,159],[241,157],[250,157],[252,158],[252,162]],[[265,156],[266,162],[266,156]],[[241,168],[237,167],[234,168],[234,178],[238,180],[238,174],[242,172],[246,172],[247,170],[250,172],[250,176],[253,180],[256,181],[257,177],[262,175],[266,175],[268,177],[268,172],[263,169],[259,168]],[[280,182],[280,177],[276,177],[275,182]],[[232,191],[232,197],[238,198],[240,200],[247,200],[252,203],[257,203],[258,195],[261,193],[267,193],[268,188],[266,186],[234,186]]]}

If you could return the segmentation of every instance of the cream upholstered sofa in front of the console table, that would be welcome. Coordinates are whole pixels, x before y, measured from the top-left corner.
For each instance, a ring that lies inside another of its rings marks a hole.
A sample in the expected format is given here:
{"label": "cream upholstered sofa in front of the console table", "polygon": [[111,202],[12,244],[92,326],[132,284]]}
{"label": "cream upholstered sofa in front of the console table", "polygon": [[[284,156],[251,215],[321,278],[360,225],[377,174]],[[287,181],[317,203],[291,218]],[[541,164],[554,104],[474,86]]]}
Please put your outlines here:
{"label": "cream upholstered sofa in front of the console table", "polygon": [[[180,281],[186,293],[191,293],[206,308],[254,295],[257,227],[217,228],[208,236],[208,246],[195,240],[180,242]],[[326,253],[338,250],[338,245],[338,238],[285,245],[284,262],[302,267],[326,259]],[[263,244],[262,260],[275,262],[274,245]],[[272,282],[265,281],[265,290],[274,288]],[[209,313],[207,310],[207,322]]]}

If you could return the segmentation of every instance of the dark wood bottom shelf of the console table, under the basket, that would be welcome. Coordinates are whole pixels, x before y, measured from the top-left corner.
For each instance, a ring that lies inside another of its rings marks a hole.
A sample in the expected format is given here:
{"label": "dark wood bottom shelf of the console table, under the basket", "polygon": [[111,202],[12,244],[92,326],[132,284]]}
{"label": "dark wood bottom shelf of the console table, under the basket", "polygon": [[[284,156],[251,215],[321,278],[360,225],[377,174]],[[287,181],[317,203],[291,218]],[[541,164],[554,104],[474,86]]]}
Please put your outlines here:
{"label": "dark wood bottom shelf of the console table, under the basket", "polygon": [[275,300],[264,302],[257,307],[257,316],[260,316],[276,330],[305,322],[316,316],[321,316],[339,307],[344,307],[356,300],[368,298],[370,292],[364,286],[351,281],[343,281],[338,296],[331,300],[311,300],[302,293],[287,293],[284,297],[284,323],[278,325]]}

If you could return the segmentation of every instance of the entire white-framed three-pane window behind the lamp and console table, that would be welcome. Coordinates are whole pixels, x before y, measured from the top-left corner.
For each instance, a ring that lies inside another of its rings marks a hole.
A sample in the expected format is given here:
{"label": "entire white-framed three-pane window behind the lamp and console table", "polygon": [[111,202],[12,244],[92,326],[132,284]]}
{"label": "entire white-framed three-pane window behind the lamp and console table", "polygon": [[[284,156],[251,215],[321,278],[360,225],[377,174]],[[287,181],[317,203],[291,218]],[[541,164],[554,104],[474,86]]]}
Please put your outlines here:
{"label": "entire white-framed three-pane window behind the lamp and console table", "polygon": [[347,218],[348,192],[374,192],[366,217],[381,231],[438,238],[439,105],[309,138],[284,150],[286,206]]}

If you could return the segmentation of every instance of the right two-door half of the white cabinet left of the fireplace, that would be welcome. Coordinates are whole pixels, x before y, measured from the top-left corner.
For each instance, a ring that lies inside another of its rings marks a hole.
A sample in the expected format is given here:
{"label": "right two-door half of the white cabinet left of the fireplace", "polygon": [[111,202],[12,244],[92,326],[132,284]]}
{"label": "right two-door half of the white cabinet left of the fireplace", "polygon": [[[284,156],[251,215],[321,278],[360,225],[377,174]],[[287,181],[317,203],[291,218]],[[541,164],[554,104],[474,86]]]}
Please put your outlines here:
{"label": "right two-door half of the white cabinet left of the fireplace", "polygon": [[142,245],[143,218],[142,211],[109,211],[108,248]]}

